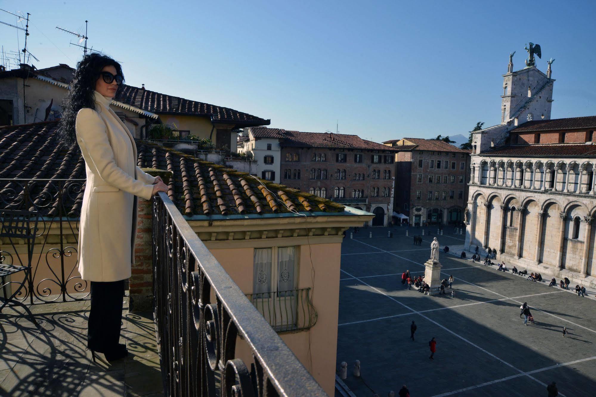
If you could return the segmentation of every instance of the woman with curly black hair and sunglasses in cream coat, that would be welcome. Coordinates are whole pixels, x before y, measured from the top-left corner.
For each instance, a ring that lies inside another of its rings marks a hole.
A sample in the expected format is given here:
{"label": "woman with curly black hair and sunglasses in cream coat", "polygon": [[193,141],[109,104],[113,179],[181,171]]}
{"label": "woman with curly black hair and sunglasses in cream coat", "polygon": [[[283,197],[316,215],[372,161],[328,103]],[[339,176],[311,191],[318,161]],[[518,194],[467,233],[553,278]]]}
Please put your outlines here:
{"label": "woman with curly black hair and sunglasses in cream coat", "polygon": [[137,199],[166,192],[160,177],[136,166],[133,136],[110,109],[122,91],[120,64],[89,54],[77,70],[60,120],[61,145],[76,142],[85,160],[86,183],[78,245],[81,278],[91,283],[87,347],[107,361],[128,354],[119,342],[124,282],[131,276]]}

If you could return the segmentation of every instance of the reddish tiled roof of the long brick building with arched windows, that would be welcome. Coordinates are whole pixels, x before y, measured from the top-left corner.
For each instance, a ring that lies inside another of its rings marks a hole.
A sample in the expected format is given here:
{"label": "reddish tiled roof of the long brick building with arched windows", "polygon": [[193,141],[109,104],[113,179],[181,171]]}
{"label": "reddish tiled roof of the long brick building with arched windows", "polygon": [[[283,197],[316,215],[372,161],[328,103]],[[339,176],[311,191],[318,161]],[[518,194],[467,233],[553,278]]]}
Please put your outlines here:
{"label": "reddish tiled roof of the long brick building with arched windows", "polygon": [[257,138],[281,139],[281,146],[284,147],[367,149],[395,152],[395,149],[391,148],[391,146],[365,140],[358,135],[300,132],[268,127],[251,127],[250,132]]}

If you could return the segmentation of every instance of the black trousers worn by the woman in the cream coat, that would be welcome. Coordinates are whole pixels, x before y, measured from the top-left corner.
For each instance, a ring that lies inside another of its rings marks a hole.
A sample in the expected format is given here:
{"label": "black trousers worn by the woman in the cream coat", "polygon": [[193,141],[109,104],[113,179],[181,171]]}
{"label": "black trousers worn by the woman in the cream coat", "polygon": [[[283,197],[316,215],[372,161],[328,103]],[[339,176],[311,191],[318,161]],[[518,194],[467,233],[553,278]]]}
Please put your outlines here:
{"label": "black trousers worn by the woman in the cream coat", "polygon": [[113,351],[120,340],[124,282],[91,282],[87,347],[100,353]]}

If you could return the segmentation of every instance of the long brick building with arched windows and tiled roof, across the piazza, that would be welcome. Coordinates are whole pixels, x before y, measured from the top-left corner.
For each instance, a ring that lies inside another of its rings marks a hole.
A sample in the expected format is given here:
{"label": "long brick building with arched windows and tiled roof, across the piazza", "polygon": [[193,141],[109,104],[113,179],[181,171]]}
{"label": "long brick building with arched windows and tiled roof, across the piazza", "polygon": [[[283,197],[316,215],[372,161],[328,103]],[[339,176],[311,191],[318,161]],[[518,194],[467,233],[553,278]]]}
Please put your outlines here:
{"label": "long brick building with arched windows and tiled roof, across the piazza", "polygon": [[356,135],[250,128],[251,139],[277,138],[280,183],[373,212],[373,226],[393,213],[396,150]]}

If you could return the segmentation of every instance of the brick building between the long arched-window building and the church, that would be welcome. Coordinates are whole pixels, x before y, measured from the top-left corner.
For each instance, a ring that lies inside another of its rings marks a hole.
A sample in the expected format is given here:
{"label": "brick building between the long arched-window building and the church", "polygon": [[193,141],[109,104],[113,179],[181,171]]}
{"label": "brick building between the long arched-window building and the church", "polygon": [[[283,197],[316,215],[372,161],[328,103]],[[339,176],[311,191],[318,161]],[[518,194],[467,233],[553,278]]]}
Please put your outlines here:
{"label": "brick building between the long arched-window building and the church", "polygon": [[403,138],[384,142],[396,154],[396,211],[412,225],[463,221],[470,180],[470,154],[442,140]]}

